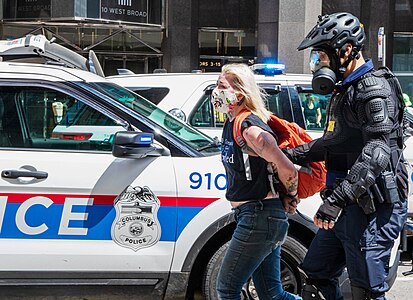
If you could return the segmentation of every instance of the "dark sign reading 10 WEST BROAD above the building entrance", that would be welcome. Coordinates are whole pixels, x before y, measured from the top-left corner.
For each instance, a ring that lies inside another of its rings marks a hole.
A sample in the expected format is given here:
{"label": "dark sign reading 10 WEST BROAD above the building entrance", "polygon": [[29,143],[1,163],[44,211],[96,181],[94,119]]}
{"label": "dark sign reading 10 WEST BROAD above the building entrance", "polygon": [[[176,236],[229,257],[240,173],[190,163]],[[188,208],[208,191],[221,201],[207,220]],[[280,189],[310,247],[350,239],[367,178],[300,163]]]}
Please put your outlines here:
{"label": "dark sign reading 10 WEST BROAD above the building entrance", "polygon": [[101,0],[101,19],[149,23],[147,0]]}

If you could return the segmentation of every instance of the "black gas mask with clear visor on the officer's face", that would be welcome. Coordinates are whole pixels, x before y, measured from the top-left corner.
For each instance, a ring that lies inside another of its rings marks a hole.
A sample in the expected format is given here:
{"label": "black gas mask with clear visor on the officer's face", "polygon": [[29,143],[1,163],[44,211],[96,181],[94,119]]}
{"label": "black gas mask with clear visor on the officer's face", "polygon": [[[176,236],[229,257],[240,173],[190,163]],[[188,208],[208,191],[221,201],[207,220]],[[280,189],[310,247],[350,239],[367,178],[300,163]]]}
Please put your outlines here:
{"label": "black gas mask with clear visor on the officer's face", "polygon": [[333,52],[313,49],[310,54],[310,69],[313,72],[312,87],[317,94],[333,92],[336,82],[342,80],[344,70],[339,68],[339,58]]}

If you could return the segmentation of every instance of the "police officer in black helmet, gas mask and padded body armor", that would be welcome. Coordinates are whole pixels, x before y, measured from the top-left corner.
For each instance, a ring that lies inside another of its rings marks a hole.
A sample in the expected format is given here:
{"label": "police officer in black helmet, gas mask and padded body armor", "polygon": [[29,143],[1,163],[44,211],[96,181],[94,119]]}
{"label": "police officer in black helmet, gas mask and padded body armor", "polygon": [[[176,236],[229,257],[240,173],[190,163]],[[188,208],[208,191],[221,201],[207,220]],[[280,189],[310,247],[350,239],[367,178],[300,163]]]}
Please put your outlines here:
{"label": "police officer in black helmet, gas mask and padded body armor", "polygon": [[302,264],[303,299],[343,299],[345,266],[353,299],[385,299],[390,252],[406,219],[403,100],[363,58],[364,40],[363,25],[343,12],[320,16],[298,47],[311,48],[313,90],[333,93],[323,136],[287,150],[294,163],[327,167],[314,217],[320,229]]}

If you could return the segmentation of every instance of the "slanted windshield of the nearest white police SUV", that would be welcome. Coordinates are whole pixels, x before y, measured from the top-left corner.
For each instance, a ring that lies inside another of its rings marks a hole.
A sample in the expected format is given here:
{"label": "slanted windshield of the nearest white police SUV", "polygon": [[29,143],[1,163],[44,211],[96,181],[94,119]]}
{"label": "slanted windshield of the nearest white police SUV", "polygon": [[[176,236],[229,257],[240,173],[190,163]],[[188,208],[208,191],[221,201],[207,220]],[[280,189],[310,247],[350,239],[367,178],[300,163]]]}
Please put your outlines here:
{"label": "slanted windshield of the nearest white police SUV", "polygon": [[194,127],[180,121],[171,114],[159,109],[152,102],[111,82],[88,83],[96,90],[144,115],[163,129],[172,133],[176,138],[203,152],[219,151],[219,143]]}

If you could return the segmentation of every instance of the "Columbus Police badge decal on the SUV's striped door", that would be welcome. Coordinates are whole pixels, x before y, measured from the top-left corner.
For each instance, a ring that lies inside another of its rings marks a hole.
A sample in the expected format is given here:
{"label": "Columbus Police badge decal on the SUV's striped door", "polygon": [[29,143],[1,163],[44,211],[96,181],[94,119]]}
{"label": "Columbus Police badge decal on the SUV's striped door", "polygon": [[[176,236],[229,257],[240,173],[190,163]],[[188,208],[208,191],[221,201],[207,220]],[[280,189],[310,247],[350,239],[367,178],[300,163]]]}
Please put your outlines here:
{"label": "Columbus Police badge decal on the SUV's striped door", "polygon": [[161,237],[159,199],[147,187],[128,186],[114,201],[116,218],[112,239],[120,246],[138,251],[156,244]]}

